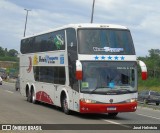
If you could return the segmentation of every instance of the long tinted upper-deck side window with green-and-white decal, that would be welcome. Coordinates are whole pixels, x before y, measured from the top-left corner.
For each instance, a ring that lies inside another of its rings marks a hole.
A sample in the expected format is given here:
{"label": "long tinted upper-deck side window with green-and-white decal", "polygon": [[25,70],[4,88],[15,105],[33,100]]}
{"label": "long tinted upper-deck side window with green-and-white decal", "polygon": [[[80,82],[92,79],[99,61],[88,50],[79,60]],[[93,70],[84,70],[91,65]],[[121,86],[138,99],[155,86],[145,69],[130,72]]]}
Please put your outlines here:
{"label": "long tinted upper-deck side window with green-and-white decal", "polygon": [[64,50],[64,49],[65,49],[64,30],[23,39],[21,41],[22,54]]}

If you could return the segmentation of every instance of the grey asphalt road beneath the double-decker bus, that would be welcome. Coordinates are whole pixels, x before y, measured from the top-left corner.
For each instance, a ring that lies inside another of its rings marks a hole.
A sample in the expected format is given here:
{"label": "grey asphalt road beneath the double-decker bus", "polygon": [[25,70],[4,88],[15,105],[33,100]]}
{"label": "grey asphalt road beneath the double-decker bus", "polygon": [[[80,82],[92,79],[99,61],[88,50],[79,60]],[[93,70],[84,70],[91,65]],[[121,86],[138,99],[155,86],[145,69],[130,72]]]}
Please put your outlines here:
{"label": "grey asphalt road beneath the double-decker bus", "polygon": [[[106,114],[82,115],[74,112],[72,115],[65,115],[60,108],[41,103],[32,104],[27,102],[25,97],[15,91],[14,84],[3,83],[3,85],[0,86],[0,124],[86,124],[91,128],[91,130],[36,131],[40,133],[160,133],[160,130],[116,130],[116,128],[118,129],[118,127],[116,127],[117,125],[127,128],[127,124],[160,124],[160,110],[139,106],[136,112],[119,113],[115,118],[110,118]],[[115,130],[92,130],[92,128],[95,129],[95,127],[99,128],[99,124],[105,124],[106,126],[112,124],[111,126],[115,127]],[[71,126],[74,128],[74,125]],[[0,131],[0,133],[1,132],[8,131]]]}

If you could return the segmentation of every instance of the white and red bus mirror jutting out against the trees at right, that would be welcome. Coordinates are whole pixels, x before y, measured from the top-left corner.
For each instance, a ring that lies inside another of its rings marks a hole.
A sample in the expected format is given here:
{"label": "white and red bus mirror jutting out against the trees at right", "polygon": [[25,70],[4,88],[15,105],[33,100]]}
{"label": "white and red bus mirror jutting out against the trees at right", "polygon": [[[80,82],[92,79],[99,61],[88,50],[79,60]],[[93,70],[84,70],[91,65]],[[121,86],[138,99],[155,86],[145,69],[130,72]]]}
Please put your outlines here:
{"label": "white and red bus mirror jutting out against the trees at right", "polygon": [[146,64],[143,61],[138,61],[140,67],[141,67],[141,77],[142,80],[146,80],[147,79],[147,67]]}

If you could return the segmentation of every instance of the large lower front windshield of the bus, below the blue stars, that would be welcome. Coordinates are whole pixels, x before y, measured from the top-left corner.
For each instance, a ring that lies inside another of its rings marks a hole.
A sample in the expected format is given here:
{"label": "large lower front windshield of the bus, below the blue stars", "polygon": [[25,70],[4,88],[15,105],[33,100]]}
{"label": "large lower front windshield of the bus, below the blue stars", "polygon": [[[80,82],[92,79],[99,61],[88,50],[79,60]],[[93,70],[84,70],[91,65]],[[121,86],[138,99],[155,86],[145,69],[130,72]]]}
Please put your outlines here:
{"label": "large lower front windshield of the bus, below the blue stars", "polygon": [[126,94],[137,91],[136,62],[82,62],[81,92]]}

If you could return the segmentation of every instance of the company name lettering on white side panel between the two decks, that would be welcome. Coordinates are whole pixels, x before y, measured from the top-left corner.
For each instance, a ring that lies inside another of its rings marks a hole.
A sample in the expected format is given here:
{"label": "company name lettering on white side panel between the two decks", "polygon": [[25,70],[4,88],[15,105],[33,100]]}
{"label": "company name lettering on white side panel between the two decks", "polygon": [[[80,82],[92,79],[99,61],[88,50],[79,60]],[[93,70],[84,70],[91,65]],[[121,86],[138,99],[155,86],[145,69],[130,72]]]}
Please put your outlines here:
{"label": "company name lettering on white side panel between the two decks", "polygon": [[39,62],[45,62],[45,63],[55,63],[55,61],[58,60],[58,57],[51,57],[49,55],[46,55],[45,57],[39,56]]}

